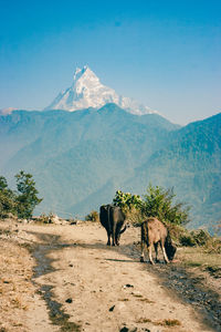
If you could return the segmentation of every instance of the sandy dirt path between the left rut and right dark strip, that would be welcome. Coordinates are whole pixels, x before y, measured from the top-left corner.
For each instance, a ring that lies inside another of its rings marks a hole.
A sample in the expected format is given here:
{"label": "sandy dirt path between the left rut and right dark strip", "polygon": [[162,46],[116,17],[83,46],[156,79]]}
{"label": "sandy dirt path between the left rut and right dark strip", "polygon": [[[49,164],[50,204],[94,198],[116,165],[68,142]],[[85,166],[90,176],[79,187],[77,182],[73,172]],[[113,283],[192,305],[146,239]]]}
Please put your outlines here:
{"label": "sandy dirt path between the left rut and right dark strip", "polygon": [[98,225],[27,230],[41,242],[34,282],[57,331],[220,331],[211,321],[206,324],[197,307],[162,286],[158,268],[139,263],[131,246],[138,230],[127,230],[117,248],[105,246],[105,230]]}

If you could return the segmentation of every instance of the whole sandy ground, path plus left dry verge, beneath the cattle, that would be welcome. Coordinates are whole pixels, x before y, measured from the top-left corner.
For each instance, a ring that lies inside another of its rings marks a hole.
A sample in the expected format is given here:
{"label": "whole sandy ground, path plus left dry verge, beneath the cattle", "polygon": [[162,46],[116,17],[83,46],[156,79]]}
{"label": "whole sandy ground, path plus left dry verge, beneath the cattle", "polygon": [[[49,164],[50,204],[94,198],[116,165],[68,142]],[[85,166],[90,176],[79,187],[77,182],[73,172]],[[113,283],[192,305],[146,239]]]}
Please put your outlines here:
{"label": "whole sandy ground, path plus left dry verge, beneath the cattle", "polygon": [[187,288],[167,282],[185,284],[176,263],[139,262],[138,240],[133,227],[106,247],[97,224],[1,222],[0,331],[220,331]]}

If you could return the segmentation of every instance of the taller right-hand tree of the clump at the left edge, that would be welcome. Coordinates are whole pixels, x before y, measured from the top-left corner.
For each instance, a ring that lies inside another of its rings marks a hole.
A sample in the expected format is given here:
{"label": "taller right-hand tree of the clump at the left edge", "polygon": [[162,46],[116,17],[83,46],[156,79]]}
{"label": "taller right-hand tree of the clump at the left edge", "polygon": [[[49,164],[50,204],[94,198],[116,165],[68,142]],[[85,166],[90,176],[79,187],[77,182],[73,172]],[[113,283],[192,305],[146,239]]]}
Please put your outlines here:
{"label": "taller right-hand tree of the clump at the left edge", "polygon": [[17,189],[19,191],[17,196],[18,216],[20,218],[30,218],[38,204],[42,201],[36,195],[39,191],[35,188],[35,181],[29,173],[21,170],[15,175]]}

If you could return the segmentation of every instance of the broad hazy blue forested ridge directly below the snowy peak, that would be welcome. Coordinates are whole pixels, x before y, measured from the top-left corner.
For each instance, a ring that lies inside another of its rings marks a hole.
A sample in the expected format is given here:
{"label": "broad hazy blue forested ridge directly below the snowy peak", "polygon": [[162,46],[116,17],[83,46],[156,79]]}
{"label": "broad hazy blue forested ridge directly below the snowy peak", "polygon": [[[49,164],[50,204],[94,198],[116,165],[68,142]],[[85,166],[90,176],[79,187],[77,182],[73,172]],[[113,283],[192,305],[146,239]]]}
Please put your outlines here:
{"label": "broad hazy blue forested ridge directly below the snowy peak", "polygon": [[42,209],[72,210],[109,180],[115,189],[122,186],[176,128],[159,115],[136,116],[115,104],[73,113],[13,112],[0,121],[0,138],[11,143],[1,173],[11,178],[20,169],[31,172],[44,197]]}

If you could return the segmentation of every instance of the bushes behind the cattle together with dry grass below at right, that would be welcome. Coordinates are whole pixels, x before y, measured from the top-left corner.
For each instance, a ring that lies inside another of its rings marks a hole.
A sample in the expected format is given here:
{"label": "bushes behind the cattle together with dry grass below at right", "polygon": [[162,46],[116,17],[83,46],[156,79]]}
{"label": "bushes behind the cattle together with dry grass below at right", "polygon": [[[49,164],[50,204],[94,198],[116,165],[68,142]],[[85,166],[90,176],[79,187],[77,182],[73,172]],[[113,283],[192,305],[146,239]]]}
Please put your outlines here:
{"label": "bushes behind the cattle together with dry grass below at right", "polygon": [[190,207],[175,199],[173,189],[149,184],[144,198],[117,190],[113,204],[125,211],[127,221],[134,226],[139,226],[150,216],[161,220],[179,248],[179,260],[185,267],[198,267],[214,278],[221,278],[220,237],[211,236],[207,229],[189,230]]}

